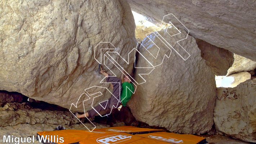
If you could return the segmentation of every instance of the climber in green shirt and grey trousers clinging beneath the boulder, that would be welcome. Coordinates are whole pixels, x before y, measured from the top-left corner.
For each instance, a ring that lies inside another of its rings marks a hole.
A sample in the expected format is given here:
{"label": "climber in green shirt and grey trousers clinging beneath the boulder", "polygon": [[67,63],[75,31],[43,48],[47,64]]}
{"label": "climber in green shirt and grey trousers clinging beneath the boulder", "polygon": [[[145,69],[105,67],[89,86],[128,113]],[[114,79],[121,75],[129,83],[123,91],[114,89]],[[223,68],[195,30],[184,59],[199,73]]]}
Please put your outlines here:
{"label": "climber in green shirt and grey trousers clinging beneath the boulder", "polygon": [[[125,107],[126,103],[131,99],[131,96],[134,93],[134,86],[131,83],[131,80],[132,80],[131,77],[129,77],[129,75],[125,76],[123,74],[124,71],[122,71],[123,73],[122,73],[121,79],[117,78],[117,77],[111,77],[111,75],[109,75],[102,69],[101,65],[99,65],[99,72],[101,74],[103,74],[105,77],[107,77],[107,82],[111,82],[110,85],[111,85],[111,88],[113,89],[113,92],[112,92],[113,95],[107,101],[100,103],[102,106],[97,105],[94,109],[96,109],[96,111],[100,112],[100,111],[105,110],[103,107],[105,107],[106,109],[111,109],[113,107],[113,105],[115,105],[115,106],[117,105],[116,108],[118,108],[121,104],[122,104],[122,106]],[[122,83],[122,85],[120,85],[120,83]],[[130,90],[126,91],[126,87],[128,87],[133,92],[131,92]],[[119,102],[120,91],[121,91],[121,103]],[[117,99],[114,96],[116,96]],[[115,108],[115,107],[113,107],[113,108]],[[96,114],[98,114],[94,109],[91,109],[90,111],[88,111],[84,114],[78,114],[76,112],[75,116],[77,118],[93,117]]]}

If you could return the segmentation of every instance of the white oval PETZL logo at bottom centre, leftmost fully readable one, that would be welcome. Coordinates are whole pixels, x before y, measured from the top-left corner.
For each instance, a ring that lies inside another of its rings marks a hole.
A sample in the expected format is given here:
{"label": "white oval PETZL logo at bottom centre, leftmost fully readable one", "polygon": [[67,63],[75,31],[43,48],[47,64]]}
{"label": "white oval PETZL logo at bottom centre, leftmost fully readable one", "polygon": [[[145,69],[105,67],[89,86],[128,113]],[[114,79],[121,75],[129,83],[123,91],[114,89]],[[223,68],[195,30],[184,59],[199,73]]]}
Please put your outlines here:
{"label": "white oval PETZL logo at bottom centre, leftmost fully readable one", "polygon": [[100,144],[116,144],[125,140],[131,139],[131,136],[127,135],[108,135],[97,139]]}

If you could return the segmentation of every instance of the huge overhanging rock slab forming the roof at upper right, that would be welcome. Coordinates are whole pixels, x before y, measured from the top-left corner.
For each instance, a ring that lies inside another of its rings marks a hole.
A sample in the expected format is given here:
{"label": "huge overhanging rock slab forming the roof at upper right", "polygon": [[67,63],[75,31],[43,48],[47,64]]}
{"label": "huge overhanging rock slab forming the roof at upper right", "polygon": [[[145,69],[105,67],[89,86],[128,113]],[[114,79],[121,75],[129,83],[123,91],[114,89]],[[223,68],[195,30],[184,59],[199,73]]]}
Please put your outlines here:
{"label": "huge overhanging rock slab forming the roof at upper right", "polygon": [[[131,9],[161,22],[174,14],[190,35],[256,61],[255,1],[251,0],[128,0]],[[172,19],[166,19],[169,23]],[[175,26],[184,28],[180,23]]]}

